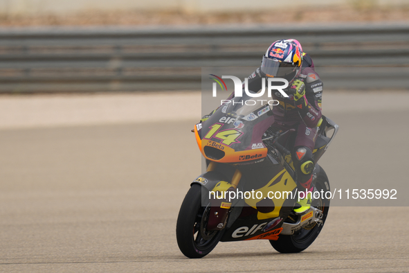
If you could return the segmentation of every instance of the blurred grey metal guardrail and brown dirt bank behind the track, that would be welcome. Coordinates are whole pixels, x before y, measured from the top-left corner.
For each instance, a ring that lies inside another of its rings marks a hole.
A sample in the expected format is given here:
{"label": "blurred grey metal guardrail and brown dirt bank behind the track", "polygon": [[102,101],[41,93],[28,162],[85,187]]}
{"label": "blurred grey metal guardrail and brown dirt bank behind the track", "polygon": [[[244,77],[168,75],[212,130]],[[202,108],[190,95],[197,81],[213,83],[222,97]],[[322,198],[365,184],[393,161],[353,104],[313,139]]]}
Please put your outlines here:
{"label": "blurred grey metal guardrail and brown dirt bank behind the track", "polygon": [[200,90],[201,67],[257,67],[283,37],[316,67],[366,67],[318,70],[327,87],[406,89],[408,15],[407,0],[0,0],[0,92]]}

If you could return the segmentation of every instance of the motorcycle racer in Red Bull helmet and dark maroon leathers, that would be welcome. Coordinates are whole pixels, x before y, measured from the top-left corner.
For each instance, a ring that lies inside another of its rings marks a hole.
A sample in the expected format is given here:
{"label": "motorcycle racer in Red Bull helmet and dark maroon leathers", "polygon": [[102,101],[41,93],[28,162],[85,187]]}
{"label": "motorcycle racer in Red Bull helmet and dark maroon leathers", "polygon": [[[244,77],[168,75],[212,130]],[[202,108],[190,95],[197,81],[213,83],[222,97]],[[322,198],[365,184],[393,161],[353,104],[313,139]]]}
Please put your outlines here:
{"label": "motorcycle racer in Red Bull helmet and dark maroon leathers", "polygon": [[[322,81],[314,70],[314,65],[307,53],[302,52],[302,46],[296,39],[280,39],[273,42],[262,58],[262,65],[251,76],[248,76],[248,90],[262,89],[262,78],[285,78],[289,87],[284,92],[272,93],[279,105],[273,107],[275,130],[287,131],[296,129],[291,157],[297,174],[298,191],[300,194],[294,211],[303,213],[311,206],[311,191],[313,190],[312,174],[316,162],[313,160],[318,127],[322,123]],[[266,81],[265,81],[266,82]],[[234,97],[234,92],[228,100]],[[202,121],[209,116],[203,116]]]}

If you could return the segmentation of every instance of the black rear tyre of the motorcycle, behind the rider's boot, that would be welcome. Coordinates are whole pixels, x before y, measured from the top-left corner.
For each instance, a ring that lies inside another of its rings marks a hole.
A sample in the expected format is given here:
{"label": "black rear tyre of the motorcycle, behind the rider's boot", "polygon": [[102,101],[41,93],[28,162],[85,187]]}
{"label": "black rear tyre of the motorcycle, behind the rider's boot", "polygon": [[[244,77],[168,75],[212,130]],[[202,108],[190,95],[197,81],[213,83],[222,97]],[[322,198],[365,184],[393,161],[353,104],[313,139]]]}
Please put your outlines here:
{"label": "black rear tyre of the motorcycle, behind the rider's boot", "polygon": [[[325,174],[325,171],[321,168],[320,175],[318,175],[315,182],[315,186],[318,191],[329,191],[329,181],[328,177]],[[318,200],[313,200],[312,206],[320,209],[322,211],[322,224],[314,223],[305,228],[300,229],[296,234],[293,235],[280,235],[278,240],[270,240],[271,245],[275,250],[281,253],[298,253],[307,249],[314,240],[320,234],[322,227],[325,224],[327,219],[328,210],[329,210],[329,199],[319,198]]]}

